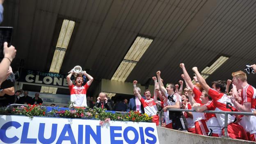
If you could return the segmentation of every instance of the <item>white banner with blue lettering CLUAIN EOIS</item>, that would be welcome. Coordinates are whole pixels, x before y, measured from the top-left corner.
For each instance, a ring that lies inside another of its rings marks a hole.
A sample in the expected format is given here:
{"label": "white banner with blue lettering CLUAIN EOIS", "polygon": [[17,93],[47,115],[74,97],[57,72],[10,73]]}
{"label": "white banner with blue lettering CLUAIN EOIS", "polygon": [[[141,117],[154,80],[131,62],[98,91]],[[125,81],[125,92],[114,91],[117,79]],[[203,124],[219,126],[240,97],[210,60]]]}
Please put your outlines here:
{"label": "white banner with blue lettering CLUAIN EOIS", "polygon": [[0,115],[0,144],[159,144],[155,123]]}

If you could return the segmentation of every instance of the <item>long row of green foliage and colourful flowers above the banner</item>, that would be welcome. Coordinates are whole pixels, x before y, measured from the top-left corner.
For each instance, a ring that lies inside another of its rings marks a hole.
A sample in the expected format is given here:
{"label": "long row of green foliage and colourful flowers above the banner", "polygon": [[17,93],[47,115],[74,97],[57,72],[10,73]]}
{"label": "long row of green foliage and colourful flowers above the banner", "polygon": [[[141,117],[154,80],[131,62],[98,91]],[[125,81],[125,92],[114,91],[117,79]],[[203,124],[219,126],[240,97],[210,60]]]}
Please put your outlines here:
{"label": "long row of green foliage and colourful flowers above the banner", "polygon": [[[4,113],[5,112],[5,113]],[[7,114],[7,111],[0,111],[1,114]],[[152,117],[147,114],[140,114],[139,112],[130,111],[129,113],[112,113],[105,112],[105,109],[94,107],[71,107],[69,110],[55,109],[46,112],[46,107],[41,105],[27,105],[15,107],[11,109],[11,114],[25,115],[28,117],[63,117],[63,118],[79,118],[79,119],[98,119],[101,121],[151,121]],[[104,122],[103,122],[104,123]]]}

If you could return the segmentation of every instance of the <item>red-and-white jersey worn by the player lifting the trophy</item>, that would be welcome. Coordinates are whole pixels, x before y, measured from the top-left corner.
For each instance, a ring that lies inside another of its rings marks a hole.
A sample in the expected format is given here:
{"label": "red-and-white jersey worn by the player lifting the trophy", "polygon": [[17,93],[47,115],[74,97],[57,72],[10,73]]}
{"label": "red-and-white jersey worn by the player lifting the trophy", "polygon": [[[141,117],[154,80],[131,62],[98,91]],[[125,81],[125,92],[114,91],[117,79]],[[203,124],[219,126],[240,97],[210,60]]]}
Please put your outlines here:
{"label": "red-and-white jersey worn by the player lifting the trophy", "polygon": [[73,84],[69,85],[70,101],[75,102],[73,104],[75,107],[87,107],[86,92],[88,88],[89,85],[87,83],[82,87],[77,87]]}

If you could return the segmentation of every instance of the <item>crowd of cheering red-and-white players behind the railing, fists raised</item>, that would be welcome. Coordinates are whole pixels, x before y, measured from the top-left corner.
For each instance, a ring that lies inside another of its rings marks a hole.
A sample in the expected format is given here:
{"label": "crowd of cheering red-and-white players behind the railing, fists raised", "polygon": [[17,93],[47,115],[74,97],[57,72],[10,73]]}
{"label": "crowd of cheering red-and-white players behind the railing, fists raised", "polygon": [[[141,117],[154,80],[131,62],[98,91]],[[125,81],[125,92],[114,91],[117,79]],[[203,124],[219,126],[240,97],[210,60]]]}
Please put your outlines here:
{"label": "crowd of cheering red-and-white players behind the railing, fists raised", "polygon": [[[183,81],[178,85],[163,85],[160,77],[161,72],[157,71],[155,81],[154,96],[151,98],[149,90],[141,95],[136,86],[137,81],[133,81],[135,96],[141,101],[145,113],[153,116],[152,121],[159,124],[157,105],[163,108],[166,128],[187,131],[199,135],[210,135],[222,137],[224,135],[224,114],[203,113],[204,110],[228,111],[228,112],[254,112],[254,116],[228,114],[228,137],[233,139],[244,139],[256,142],[256,89],[247,83],[247,75],[243,71],[232,73],[232,80],[212,82],[211,87],[207,85],[204,78],[199,73],[197,67],[193,67],[196,77],[193,84],[190,75],[182,63],[180,67],[183,71],[181,77],[185,81],[186,87],[183,89]],[[256,65],[250,66],[256,71]],[[231,91],[229,87],[232,84]],[[160,98],[161,101],[158,101]],[[167,111],[167,109],[187,109],[197,112]]]}

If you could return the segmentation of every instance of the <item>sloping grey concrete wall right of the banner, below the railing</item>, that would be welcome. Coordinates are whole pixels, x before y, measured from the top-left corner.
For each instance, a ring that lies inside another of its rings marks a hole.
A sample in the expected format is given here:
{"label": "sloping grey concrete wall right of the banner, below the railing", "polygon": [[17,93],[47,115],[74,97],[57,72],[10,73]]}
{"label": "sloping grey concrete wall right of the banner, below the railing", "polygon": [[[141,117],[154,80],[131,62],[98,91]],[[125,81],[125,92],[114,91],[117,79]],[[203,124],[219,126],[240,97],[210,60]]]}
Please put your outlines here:
{"label": "sloping grey concrete wall right of the banner, below the railing", "polygon": [[162,127],[157,127],[157,130],[160,144],[256,144],[244,140],[195,135]]}

